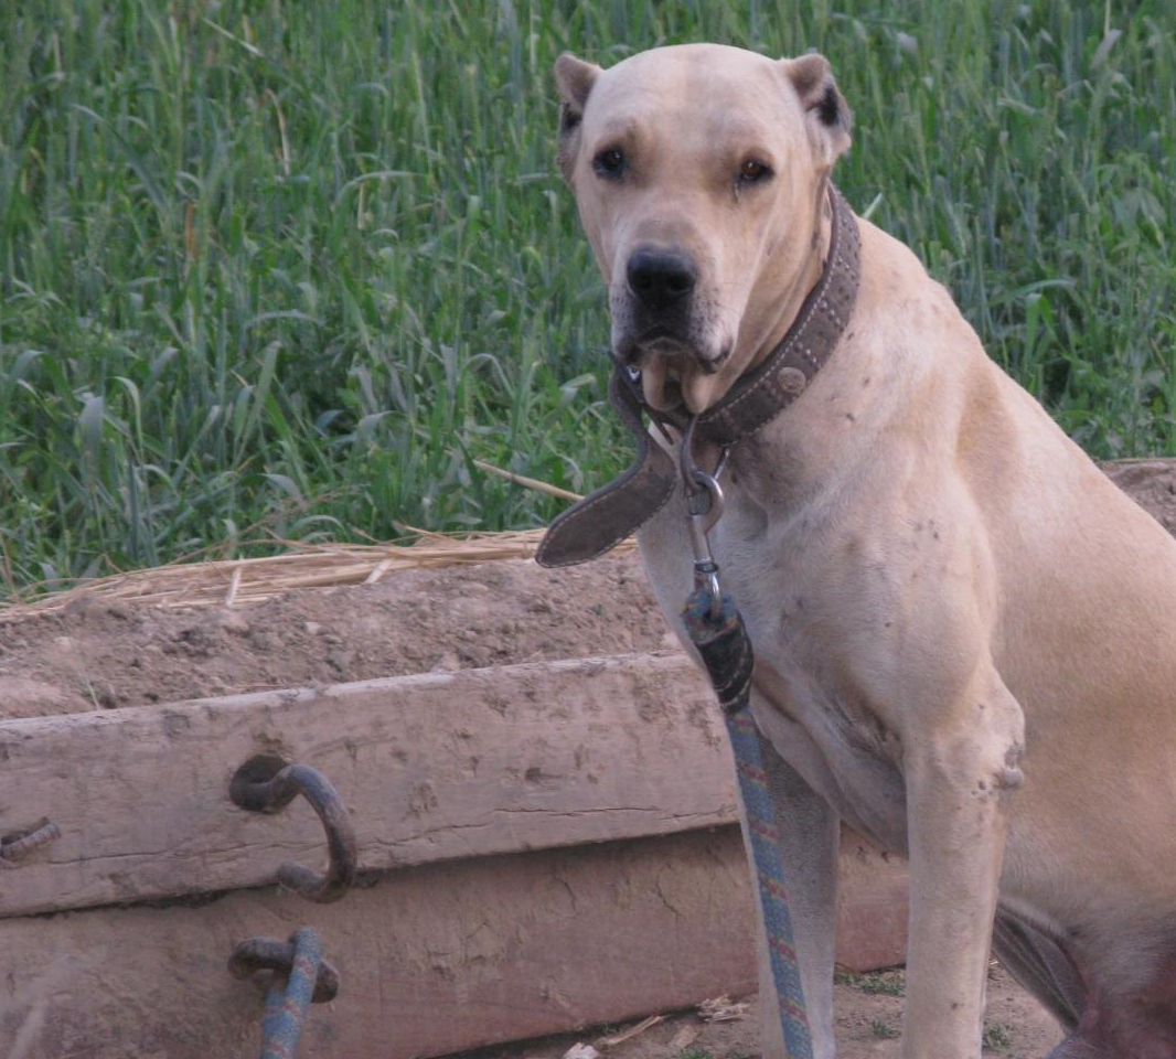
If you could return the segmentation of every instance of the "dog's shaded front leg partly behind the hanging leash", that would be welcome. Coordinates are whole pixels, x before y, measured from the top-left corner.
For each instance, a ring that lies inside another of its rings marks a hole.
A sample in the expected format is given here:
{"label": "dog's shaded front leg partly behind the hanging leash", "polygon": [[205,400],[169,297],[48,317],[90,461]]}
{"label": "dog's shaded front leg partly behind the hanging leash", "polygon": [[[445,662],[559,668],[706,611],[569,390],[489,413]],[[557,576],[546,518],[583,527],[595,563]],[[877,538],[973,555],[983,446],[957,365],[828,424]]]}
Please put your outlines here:
{"label": "dog's shaded front leg partly behind the hanging leash", "polygon": [[[760,739],[781,837],[789,911],[804,987],[814,1059],[833,1059],[833,964],[837,904],[838,819],[829,803]],[[753,879],[755,872],[753,869]],[[759,909],[759,900],[756,902]],[[760,1021],[764,1059],[784,1054],[776,988],[760,921]]]}

